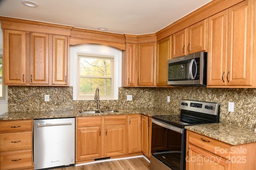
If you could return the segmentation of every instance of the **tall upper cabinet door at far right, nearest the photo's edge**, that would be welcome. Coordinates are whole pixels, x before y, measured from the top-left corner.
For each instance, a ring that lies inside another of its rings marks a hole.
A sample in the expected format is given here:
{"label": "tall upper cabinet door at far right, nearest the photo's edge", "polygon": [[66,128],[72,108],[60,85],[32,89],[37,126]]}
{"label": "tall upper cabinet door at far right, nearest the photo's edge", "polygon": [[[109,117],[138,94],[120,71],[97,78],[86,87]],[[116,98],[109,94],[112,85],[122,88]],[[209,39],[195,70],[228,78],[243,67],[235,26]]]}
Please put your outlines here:
{"label": "tall upper cabinet door at far right, nearest the photo's edge", "polygon": [[248,1],[228,9],[228,85],[252,85],[253,14]]}

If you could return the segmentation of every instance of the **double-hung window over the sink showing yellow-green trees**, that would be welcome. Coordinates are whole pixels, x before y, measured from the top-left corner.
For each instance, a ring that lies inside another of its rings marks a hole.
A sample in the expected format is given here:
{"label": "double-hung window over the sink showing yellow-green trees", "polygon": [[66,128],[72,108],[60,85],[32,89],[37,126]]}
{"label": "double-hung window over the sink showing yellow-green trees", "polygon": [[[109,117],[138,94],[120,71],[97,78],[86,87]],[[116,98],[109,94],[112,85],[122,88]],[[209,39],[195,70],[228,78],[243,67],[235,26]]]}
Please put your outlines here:
{"label": "double-hung window over the sink showing yellow-green trees", "polygon": [[114,57],[78,55],[77,98],[94,99],[99,88],[100,99],[114,99]]}

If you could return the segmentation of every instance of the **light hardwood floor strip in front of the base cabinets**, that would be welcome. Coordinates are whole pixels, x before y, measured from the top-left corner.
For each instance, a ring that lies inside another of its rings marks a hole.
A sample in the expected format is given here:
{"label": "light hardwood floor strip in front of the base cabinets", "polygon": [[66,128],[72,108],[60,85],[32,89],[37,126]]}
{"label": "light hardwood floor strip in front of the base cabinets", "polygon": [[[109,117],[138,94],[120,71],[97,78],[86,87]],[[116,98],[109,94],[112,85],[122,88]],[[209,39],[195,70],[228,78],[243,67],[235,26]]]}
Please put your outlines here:
{"label": "light hardwood floor strip in front of the base cabinets", "polygon": [[150,163],[143,157],[70,166],[54,170],[149,170]]}

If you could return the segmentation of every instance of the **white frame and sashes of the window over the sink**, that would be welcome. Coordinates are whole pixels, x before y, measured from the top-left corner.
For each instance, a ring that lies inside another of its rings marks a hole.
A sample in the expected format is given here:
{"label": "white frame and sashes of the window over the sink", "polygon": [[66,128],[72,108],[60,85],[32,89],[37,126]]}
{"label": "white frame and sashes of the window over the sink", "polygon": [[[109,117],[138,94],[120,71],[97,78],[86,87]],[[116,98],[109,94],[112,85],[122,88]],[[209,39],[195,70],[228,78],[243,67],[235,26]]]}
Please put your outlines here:
{"label": "white frame and sashes of the window over the sink", "polygon": [[[111,72],[110,76],[81,76],[80,75],[80,58],[98,58],[98,59],[110,59],[110,67]],[[78,100],[94,100],[94,95],[80,95],[80,78],[110,78],[111,79],[111,95],[110,96],[103,96],[100,95],[100,99],[114,99],[114,56],[111,55],[95,55],[95,54],[88,54],[88,53],[77,53],[77,78],[76,78],[76,99]],[[96,90],[96,88],[95,88]]]}

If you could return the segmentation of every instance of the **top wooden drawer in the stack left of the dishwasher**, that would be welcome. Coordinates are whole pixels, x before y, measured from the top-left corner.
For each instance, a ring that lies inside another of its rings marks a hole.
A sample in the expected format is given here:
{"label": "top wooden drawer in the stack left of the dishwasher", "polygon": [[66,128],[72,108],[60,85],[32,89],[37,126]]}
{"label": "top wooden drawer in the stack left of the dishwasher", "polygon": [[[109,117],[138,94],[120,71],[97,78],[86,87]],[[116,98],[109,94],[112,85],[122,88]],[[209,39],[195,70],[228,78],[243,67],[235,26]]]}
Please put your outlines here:
{"label": "top wooden drawer in the stack left of the dishwasher", "polygon": [[32,131],[32,120],[0,121],[0,133]]}

